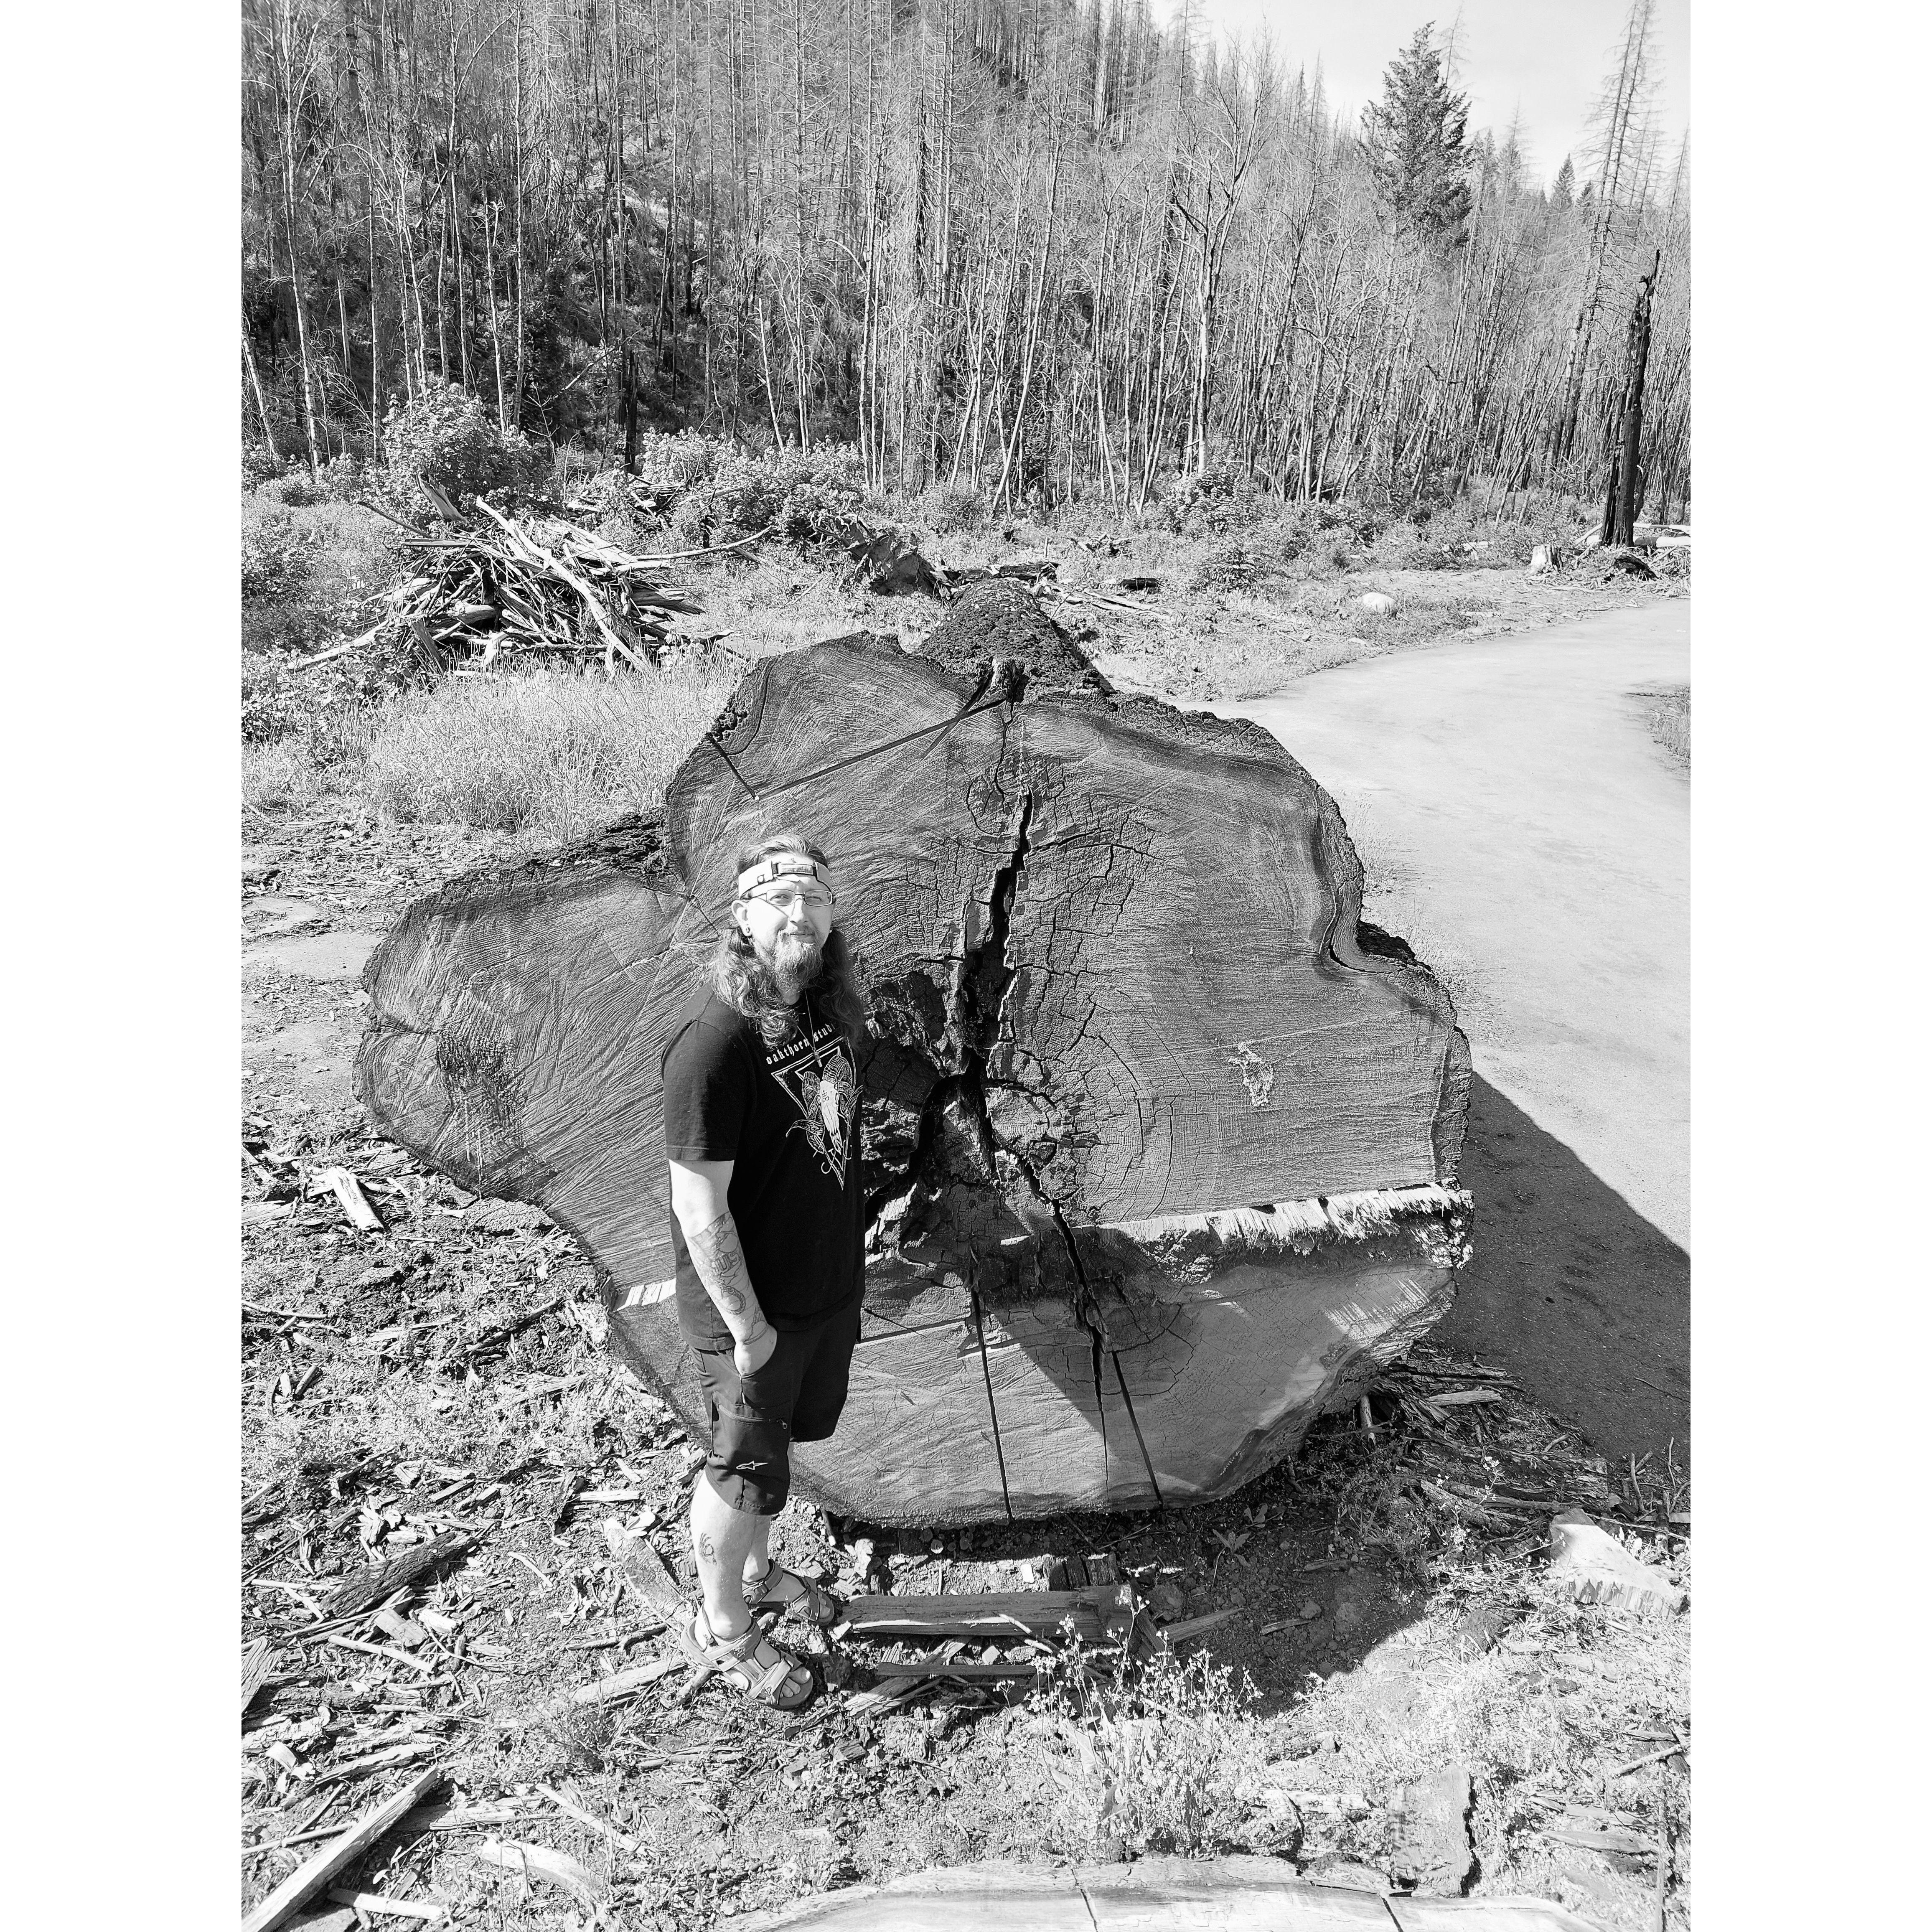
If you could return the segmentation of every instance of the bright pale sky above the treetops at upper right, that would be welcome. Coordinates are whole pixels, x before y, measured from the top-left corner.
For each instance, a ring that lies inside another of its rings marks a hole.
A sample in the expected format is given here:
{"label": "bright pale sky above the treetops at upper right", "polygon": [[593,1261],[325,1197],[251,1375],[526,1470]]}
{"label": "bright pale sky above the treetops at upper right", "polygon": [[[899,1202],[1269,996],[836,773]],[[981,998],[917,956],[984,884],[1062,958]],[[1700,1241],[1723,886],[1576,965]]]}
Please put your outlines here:
{"label": "bright pale sky above the treetops at upper right", "polygon": [[[1461,15],[1459,85],[1470,133],[1497,139],[1520,114],[1532,178],[1548,182],[1565,155],[1584,172],[1584,122],[1623,44],[1629,0],[1186,0],[1190,17],[1221,33],[1273,33],[1293,73],[1321,60],[1331,106],[1352,120],[1381,91],[1381,70],[1426,19],[1441,39]],[[1167,0],[1169,17],[1180,0]],[[1690,0],[1658,0],[1652,71],[1662,79],[1658,126],[1665,156],[1690,126]]]}

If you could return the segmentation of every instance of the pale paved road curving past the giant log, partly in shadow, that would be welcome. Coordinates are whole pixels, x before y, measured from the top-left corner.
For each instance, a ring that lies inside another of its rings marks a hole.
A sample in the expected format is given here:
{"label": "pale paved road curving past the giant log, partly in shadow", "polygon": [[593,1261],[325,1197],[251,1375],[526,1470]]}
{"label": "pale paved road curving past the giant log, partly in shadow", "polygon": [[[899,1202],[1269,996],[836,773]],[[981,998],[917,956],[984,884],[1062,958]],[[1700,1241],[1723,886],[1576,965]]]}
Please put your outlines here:
{"label": "pale paved road curving past the giant log, partly in shadow", "polygon": [[1689,682],[1683,601],[1217,707],[1335,796],[1364,914],[1468,1032],[1478,1260],[1443,1341],[1619,1457],[1689,1434],[1690,782],[1633,696]]}

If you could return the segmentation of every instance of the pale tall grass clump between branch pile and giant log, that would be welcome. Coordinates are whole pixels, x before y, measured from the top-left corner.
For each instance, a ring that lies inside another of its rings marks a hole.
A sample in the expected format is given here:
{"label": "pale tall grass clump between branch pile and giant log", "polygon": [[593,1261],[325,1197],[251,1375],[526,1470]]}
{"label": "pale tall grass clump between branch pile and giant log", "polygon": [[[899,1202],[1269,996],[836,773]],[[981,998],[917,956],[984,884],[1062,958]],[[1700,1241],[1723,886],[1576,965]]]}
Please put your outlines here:
{"label": "pale tall grass clump between branch pile and giant log", "polygon": [[655,804],[736,682],[717,659],[670,670],[539,670],[404,692],[369,750],[369,794],[402,823],[572,837]]}

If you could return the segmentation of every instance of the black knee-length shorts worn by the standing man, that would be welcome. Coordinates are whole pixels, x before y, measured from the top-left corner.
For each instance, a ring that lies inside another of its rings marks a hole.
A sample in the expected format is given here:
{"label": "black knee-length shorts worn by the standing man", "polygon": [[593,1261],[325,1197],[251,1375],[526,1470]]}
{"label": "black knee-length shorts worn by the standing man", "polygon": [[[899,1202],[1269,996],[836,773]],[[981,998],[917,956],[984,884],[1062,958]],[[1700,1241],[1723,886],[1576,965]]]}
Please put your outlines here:
{"label": "black knee-length shorts worn by the standing man", "polygon": [[744,1378],[730,1349],[686,1329],[711,1422],[705,1480],[732,1509],[775,1517],[792,1492],[792,1443],[823,1441],[837,1428],[858,1343],[858,1310],[854,1294],[811,1327],[773,1329],[779,1343],[771,1358]]}

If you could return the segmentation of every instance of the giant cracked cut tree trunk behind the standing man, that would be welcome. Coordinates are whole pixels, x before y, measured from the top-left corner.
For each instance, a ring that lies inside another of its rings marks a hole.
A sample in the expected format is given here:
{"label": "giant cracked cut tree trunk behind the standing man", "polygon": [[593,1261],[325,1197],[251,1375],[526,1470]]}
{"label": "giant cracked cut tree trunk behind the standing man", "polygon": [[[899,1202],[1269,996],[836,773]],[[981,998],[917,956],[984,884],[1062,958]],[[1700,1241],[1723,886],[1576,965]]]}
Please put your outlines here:
{"label": "giant cracked cut tree trunk behind the standing man", "polygon": [[796,827],[873,1020],[852,1395],[800,1490],[918,1524],[1225,1495],[1447,1310],[1466,1043],[1258,726],[1115,696],[1010,583],[923,653],[769,659],[661,813],[413,906],[359,1092],[578,1236],[612,1350],[697,1434],[659,1055],[734,848]]}

